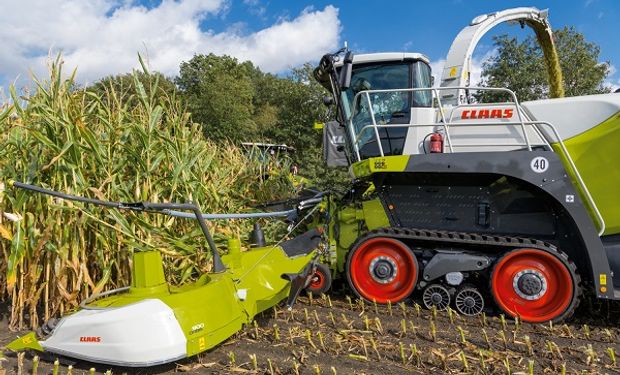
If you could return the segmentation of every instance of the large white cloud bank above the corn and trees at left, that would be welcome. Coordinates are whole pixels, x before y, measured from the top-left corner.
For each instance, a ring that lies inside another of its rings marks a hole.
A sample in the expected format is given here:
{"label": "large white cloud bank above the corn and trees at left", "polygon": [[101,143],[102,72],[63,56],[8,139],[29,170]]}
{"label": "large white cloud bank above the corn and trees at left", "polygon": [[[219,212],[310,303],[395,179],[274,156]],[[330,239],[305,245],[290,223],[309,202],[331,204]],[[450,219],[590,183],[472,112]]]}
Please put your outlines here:
{"label": "large white cloud bank above the corn and trees at left", "polygon": [[178,73],[181,61],[209,52],[281,72],[317,60],[339,44],[341,26],[333,6],[307,8],[247,35],[235,27],[205,31],[209,19],[228,7],[227,0],[163,0],[151,9],[135,0],[10,1],[0,12],[0,75],[12,80],[28,69],[41,74],[50,48],[63,51],[65,66],[77,66],[82,82],[130,71],[138,66],[138,52],[148,54],[152,69],[168,75]]}

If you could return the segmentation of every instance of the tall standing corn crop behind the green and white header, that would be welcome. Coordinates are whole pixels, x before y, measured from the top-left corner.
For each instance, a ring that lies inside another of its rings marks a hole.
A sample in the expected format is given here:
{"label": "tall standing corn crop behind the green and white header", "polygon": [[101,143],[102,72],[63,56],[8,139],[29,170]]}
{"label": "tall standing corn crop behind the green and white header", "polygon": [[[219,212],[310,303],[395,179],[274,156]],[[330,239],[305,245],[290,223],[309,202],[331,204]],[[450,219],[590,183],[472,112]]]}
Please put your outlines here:
{"label": "tall standing corn crop behind the green and white header", "polygon": [[[128,285],[133,251],[159,249],[173,284],[206,271],[209,257],[192,220],[87,207],[9,188],[10,179],[103,200],[193,201],[204,212],[244,211],[291,189],[286,166],[207,141],[174,94],[156,97],[156,76],[149,90],[136,76],[136,94],[124,98],[77,88],[60,56],[49,64],[31,94],[11,87],[12,104],[0,107],[0,300],[12,329]],[[209,225],[222,248],[251,223]],[[270,223],[267,235],[281,228]]]}

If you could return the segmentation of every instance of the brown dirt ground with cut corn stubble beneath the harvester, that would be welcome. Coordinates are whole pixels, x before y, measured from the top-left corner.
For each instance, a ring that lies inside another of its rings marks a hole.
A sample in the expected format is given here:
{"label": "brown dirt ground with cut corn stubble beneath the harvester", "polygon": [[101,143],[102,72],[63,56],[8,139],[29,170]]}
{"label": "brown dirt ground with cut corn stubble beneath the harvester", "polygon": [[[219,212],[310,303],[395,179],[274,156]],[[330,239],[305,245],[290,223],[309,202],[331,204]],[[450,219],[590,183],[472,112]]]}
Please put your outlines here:
{"label": "brown dirt ground with cut corn stubble beneath the harvester", "polygon": [[[300,298],[293,311],[261,314],[212,351],[148,369],[61,362],[59,374],[620,374],[620,303],[586,298],[561,325],[519,324],[493,310],[464,317],[416,307],[375,306],[346,295]],[[0,311],[0,346],[15,337]],[[485,318],[486,317],[486,318]],[[53,373],[42,358],[38,374]],[[22,362],[22,365],[18,365]],[[7,374],[32,373],[32,356],[0,359]],[[0,375],[3,370],[0,369]]]}

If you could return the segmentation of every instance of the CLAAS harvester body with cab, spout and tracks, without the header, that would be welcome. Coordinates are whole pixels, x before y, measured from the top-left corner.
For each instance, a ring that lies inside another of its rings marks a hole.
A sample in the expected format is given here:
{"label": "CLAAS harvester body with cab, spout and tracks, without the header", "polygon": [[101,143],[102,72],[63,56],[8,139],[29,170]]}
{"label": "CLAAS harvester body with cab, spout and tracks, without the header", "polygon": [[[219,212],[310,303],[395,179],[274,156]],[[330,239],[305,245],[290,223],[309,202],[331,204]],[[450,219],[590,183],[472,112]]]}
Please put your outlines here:
{"label": "CLAAS harvester body with cab, spout and tracks, without the header", "polygon": [[[536,32],[552,99],[469,84],[476,44],[506,21]],[[328,164],[342,150],[353,178],[329,198],[330,261],[358,296],[530,322],[569,317],[583,288],[620,298],[620,97],[561,98],[546,11],[476,17],[440,87],[422,54],[339,52],[314,75],[337,106]]]}

